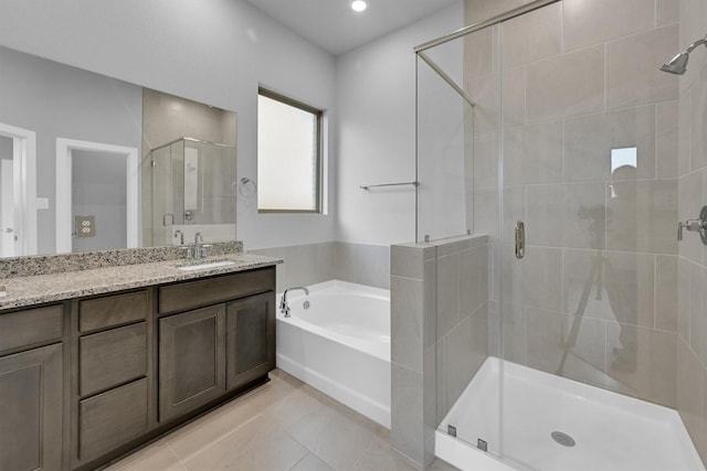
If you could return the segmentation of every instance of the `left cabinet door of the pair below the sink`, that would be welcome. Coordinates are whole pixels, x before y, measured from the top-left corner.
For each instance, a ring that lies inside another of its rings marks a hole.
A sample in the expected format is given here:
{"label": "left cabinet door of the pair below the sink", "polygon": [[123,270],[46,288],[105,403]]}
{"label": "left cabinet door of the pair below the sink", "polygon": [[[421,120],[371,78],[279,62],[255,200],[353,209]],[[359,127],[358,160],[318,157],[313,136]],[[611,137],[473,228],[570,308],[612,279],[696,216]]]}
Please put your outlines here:
{"label": "left cabinet door of the pair below the sink", "polygon": [[159,419],[225,393],[225,304],[159,320]]}

